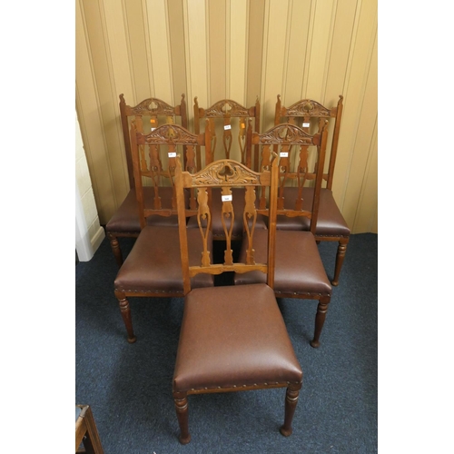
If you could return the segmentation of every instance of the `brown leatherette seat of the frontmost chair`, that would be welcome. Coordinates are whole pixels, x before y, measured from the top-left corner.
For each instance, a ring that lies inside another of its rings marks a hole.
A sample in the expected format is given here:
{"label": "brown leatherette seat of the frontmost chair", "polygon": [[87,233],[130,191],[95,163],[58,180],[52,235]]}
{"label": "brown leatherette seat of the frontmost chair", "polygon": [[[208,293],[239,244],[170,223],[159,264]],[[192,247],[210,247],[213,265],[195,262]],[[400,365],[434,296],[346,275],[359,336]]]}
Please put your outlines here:
{"label": "brown leatherette seat of the frontmost chair", "polygon": [[180,338],[174,391],[302,380],[281,311],[264,283],[191,291],[184,302]]}

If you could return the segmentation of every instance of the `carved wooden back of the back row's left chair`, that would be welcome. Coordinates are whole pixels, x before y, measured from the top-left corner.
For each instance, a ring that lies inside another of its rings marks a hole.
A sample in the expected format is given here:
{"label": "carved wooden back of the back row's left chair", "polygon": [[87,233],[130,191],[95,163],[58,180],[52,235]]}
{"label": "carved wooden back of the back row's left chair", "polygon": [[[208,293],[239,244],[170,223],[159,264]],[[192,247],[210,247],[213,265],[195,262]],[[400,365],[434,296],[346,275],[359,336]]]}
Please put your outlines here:
{"label": "carved wooden back of the back row's left chair", "polygon": [[[130,189],[134,187],[133,158],[131,151],[130,123],[134,122],[139,133],[149,133],[164,123],[176,123],[188,129],[188,117],[184,94],[180,104],[172,106],[158,98],[147,98],[141,103],[131,106],[120,94],[120,117],[122,120],[124,150],[128,166]],[[183,153],[184,155],[185,153]],[[183,158],[185,159],[185,157]]]}

